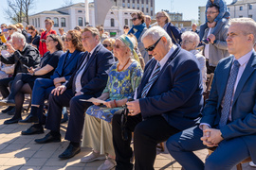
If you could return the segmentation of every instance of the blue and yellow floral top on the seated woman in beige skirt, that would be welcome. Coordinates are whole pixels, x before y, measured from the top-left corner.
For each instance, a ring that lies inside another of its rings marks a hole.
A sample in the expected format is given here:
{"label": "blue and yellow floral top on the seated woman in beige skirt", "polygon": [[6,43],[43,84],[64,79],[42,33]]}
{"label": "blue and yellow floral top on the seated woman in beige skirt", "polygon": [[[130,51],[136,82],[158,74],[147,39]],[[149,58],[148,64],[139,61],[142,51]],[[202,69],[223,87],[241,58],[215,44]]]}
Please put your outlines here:
{"label": "blue and yellow floral top on the seated woman in beige skirt", "polygon": [[[113,64],[108,74],[107,85],[103,91],[103,93],[109,93],[109,98],[106,101],[120,100],[132,96],[143,75],[137,60],[133,61],[126,70],[118,72],[117,67],[118,62]],[[86,110],[86,114],[111,122],[113,114],[121,109],[121,107],[106,108],[106,106],[93,105]]]}

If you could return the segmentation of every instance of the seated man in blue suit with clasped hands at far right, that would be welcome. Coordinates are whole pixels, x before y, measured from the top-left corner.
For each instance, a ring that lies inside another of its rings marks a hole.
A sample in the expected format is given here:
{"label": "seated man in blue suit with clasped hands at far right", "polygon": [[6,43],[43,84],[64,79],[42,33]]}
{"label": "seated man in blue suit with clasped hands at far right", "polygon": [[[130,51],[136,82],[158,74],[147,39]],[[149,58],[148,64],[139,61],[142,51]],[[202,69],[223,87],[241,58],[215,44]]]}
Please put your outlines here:
{"label": "seated man in blue suit with clasped hands at far right", "polygon": [[[228,170],[251,157],[256,162],[256,23],[250,18],[230,21],[228,49],[214,72],[201,124],[167,141],[171,155],[184,169]],[[206,159],[192,151],[217,146]]]}

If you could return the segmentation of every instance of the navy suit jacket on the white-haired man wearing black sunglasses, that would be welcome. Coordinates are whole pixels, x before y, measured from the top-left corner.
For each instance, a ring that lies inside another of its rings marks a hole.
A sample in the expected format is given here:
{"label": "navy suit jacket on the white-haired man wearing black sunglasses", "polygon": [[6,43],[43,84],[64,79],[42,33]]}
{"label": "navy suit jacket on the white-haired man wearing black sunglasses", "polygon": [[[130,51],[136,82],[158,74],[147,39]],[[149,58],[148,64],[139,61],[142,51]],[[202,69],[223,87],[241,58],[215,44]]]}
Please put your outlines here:
{"label": "navy suit jacket on the white-haired man wearing black sunglasses", "polygon": [[195,126],[203,108],[203,87],[197,59],[178,46],[146,97],[141,98],[155,63],[154,58],[148,62],[137,89],[142,117],[162,115],[171,126],[180,130]]}

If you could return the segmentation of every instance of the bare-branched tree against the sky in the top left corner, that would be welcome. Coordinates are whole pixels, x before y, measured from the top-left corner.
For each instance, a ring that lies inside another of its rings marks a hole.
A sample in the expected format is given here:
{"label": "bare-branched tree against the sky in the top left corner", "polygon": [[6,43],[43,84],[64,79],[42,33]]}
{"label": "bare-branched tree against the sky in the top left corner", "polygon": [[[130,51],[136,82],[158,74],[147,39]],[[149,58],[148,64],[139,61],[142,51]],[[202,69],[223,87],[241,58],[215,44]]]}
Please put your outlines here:
{"label": "bare-branched tree against the sky in the top left corner", "polygon": [[7,19],[10,19],[12,23],[27,23],[28,11],[35,4],[36,0],[7,0],[8,8],[5,9]]}

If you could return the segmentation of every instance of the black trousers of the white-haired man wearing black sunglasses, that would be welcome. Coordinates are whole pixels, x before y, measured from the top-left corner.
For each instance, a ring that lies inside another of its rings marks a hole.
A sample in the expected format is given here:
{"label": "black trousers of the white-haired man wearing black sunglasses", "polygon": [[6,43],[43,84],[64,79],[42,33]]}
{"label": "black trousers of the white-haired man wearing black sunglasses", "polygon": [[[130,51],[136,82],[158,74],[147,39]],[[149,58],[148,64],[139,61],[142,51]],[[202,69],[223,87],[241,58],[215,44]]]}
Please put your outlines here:
{"label": "black trousers of the white-haired man wearing black sunglasses", "polygon": [[120,112],[114,114],[112,120],[113,144],[116,153],[116,170],[132,170],[130,162],[133,152],[130,147],[132,131],[134,131],[134,152],[136,170],[154,170],[156,144],[166,141],[170,136],[180,130],[172,127],[161,116],[154,116],[141,121],[141,114],[128,116],[127,132],[128,141],[121,138]]}

